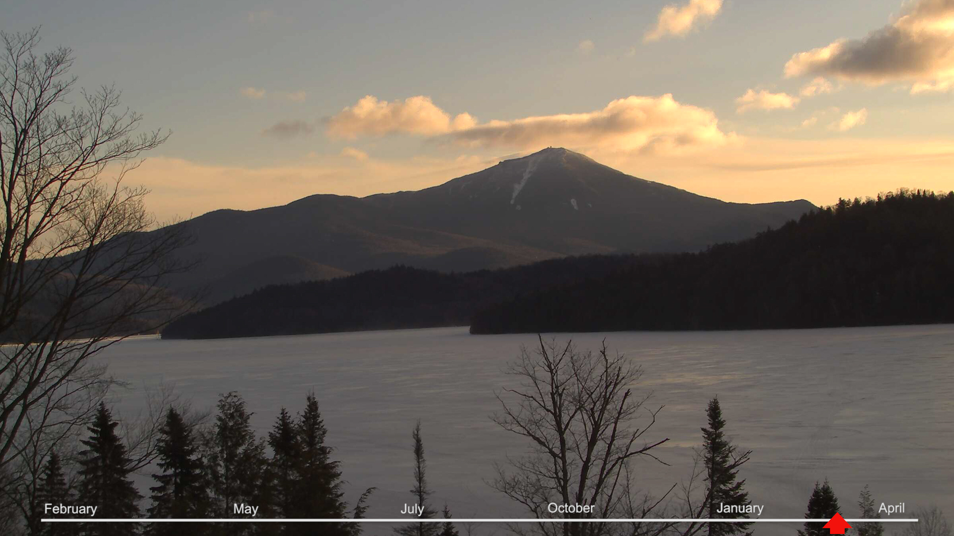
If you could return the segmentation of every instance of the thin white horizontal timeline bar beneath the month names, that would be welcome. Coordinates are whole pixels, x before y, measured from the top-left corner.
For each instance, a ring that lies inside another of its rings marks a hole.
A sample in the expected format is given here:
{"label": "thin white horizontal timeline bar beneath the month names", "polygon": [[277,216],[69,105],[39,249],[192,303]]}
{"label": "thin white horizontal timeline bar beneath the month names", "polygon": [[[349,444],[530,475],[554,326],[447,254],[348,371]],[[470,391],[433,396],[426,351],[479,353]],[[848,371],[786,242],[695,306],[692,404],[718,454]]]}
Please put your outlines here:
{"label": "thin white horizontal timeline bar beneath the month names", "polygon": [[[226,519],[169,519],[169,518],[89,518],[89,519],[57,519],[44,518],[40,520],[43,523],[827,523],[827,519],[659,519],[659,518],[612,518],[612,519],[414,519],[414,518],[394,518],[394,519],[256,519],[256,518],[226,518]],[[848,523],[916,523],[917,518],[912,519],[846,519]]]}

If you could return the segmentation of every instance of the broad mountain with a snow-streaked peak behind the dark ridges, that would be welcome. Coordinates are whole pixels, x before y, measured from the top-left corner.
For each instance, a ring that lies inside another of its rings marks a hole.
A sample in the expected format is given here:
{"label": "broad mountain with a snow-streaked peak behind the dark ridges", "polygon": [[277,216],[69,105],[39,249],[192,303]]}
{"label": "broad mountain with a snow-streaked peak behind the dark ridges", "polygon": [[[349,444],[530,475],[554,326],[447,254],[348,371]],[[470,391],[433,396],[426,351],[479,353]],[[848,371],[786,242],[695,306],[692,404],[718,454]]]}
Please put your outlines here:
{"label": "broad mountain with a snow-streaked peak behind the dark ridges", "polygon": [[549,148],[417,192],[317,195],[181,222],[197,268],[173,281],[206,303],[269,283],[395,264],[444,272],[612,252],[697,251],[812,210],[808,201],[727,203]]}

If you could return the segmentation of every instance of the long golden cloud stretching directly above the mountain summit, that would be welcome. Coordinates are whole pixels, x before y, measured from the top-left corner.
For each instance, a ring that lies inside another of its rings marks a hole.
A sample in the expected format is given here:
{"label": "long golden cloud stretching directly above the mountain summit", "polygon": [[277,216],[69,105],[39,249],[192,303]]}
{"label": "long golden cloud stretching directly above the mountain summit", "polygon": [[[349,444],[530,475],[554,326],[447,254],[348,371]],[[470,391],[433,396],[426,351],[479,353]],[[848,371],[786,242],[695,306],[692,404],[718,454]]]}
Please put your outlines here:
{"label": "long golden cloud stretching directly above the mountain summit", "polygon": [[474,147],[534,150],[551,145],[644,153],[717,147],[735,138],[719,130],[715,113],[677,102],[668,93],[616,99],[594,112],[489,121],[447,135]]}

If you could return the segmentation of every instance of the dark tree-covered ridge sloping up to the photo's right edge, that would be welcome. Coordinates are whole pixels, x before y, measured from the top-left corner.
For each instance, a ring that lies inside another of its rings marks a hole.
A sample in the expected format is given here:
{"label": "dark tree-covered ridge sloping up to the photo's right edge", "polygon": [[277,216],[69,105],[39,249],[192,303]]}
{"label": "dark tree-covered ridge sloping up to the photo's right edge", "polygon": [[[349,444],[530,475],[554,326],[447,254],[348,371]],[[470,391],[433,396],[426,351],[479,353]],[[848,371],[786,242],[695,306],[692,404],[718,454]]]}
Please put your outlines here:
{"label": "dark tree-covered ridge sloping up to the photo's right edge", "polygon": [[954,193],[840,200],[697,254],[508,299],[471,333],[809,328],[954,321]]}

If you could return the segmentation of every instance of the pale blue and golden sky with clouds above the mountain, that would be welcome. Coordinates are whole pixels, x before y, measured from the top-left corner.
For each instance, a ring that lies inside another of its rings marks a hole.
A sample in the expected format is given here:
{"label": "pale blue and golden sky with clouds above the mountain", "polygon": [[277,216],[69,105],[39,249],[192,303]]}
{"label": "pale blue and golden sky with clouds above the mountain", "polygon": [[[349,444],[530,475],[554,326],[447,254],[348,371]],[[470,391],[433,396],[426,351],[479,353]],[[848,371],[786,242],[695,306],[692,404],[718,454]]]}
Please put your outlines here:
{"label": "pale blue and golden sky with clouds above the mountain", "polygon": [[78,84],[172,132],[164,221],[418,190],[548,146],[704,196],[954,190],[954,0],[32,0]]}

